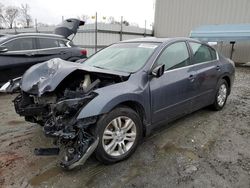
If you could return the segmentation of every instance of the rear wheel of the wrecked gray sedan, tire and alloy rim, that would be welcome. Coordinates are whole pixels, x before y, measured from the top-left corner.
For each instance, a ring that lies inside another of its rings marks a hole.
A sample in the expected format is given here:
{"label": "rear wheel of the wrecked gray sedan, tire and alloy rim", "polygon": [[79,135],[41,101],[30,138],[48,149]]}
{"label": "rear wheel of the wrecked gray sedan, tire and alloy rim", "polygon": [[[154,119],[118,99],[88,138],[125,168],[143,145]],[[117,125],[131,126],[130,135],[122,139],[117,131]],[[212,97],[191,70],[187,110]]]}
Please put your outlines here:
{"label": "rear wheel of the wrecked gray sedan, tire and alloy rim", "polygon": [[221,110],[227,102],[228,94],[229,94],[229,87],[227,81],[224,79],[219,80],[212,108],[216,111]]}

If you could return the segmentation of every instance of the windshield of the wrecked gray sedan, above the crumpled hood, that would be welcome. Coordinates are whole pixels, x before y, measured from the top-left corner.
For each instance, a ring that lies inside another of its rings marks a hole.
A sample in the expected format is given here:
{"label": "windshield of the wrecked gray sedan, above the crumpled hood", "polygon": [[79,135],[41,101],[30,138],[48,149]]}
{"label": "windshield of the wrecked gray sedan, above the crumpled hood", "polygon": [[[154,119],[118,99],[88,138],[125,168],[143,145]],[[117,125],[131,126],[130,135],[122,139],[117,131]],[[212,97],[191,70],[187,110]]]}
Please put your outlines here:
{"label": "windshield of the wrecked gray sedan, above the crumpled hood", "polygon": [[159,43],[120,43],[96,53],[84,64],[101,69],[136,72],[142,68]]}

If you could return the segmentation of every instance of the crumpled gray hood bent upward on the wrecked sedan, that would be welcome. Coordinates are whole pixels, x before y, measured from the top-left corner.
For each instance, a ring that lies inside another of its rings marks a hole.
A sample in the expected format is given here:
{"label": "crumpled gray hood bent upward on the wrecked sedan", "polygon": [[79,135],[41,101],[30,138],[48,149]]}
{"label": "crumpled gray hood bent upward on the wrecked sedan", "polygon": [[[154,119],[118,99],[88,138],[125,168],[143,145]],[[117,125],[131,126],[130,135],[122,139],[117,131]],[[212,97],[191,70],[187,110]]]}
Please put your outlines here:
{"label": "crumpled gray hood bent upward on the wrecked sedan", "polygon": [[75,70],[129,76],[128,73],[98,69],[55,58],[29,68],[22,77],[21,89],[24,92],[41,96],[45,92],[54,91],[61,81]]}

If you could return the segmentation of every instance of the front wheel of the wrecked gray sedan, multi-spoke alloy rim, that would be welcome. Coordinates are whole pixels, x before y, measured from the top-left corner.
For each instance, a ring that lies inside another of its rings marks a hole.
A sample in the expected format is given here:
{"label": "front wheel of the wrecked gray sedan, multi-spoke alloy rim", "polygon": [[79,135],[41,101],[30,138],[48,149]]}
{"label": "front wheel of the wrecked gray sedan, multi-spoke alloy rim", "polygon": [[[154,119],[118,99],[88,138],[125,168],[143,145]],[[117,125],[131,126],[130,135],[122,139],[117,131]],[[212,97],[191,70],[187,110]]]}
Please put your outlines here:
{"label": "front wheel of the wrecked gray sedan, multi-spoke alloy rim", "polygon": [[99,136],[95,150],[97,160],[104,164],[116,163],[135,152],[142,138],[141,119],[130,108],[117,107],[98,120],[95,134]]}

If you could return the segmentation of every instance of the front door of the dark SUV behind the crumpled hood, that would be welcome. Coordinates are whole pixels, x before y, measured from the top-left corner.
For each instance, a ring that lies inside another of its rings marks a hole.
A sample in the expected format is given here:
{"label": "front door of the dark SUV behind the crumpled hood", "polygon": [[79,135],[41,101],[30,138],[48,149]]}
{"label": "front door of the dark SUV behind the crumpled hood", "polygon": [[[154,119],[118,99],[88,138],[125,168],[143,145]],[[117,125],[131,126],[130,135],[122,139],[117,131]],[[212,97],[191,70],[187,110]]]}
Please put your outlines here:
{"label": "front door of the dark SUV behind the crumpled hood", "polygon": [[12,39],[2,44],[8,52],[0,54],[0,82],[22,76],[36,60],[36,45],[33,37]]}

